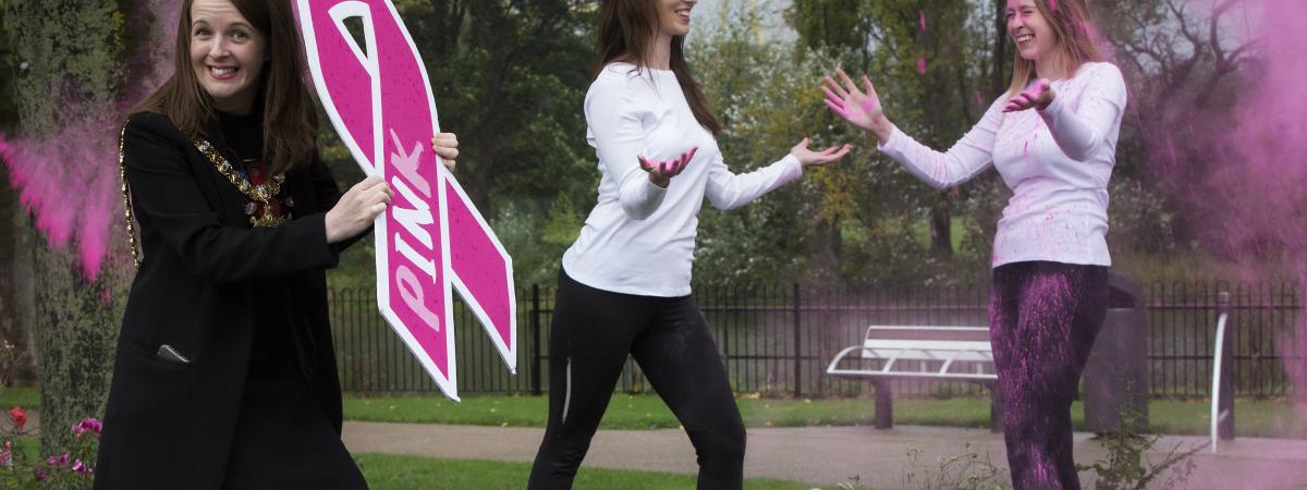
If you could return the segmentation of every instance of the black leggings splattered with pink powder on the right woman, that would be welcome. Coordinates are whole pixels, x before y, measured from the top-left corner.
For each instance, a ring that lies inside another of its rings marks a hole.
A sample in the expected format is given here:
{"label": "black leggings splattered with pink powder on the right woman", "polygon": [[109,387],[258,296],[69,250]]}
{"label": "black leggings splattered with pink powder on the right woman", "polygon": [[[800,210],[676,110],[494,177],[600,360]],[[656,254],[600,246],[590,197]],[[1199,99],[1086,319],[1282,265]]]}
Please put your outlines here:
{"label": "black leggings splattered with pink powder on the right woman", "polygon": [[993,269],[989,338],[1014,489],[1080,489],[1070,404],[1106,315],[1106,267],[1029,261]]}

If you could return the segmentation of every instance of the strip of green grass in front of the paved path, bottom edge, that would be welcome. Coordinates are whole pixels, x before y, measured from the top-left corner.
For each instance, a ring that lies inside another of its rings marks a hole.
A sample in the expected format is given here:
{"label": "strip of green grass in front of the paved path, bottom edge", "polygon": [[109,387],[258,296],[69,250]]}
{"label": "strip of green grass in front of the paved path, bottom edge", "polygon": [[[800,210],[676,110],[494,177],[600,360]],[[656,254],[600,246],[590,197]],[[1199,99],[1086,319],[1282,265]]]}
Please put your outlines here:
{"label": "strip of green grass in front of the paved path, bottom edge", "polygon": [[[521,489],[529,463],[444,460],[420,456],[357,455],[358,466],[375,490],[384,489]],[[693,489],[693,474],[616,470],[582,466],[575,489]],[[808,490],[813,485],[746,478],[745,489]]]}

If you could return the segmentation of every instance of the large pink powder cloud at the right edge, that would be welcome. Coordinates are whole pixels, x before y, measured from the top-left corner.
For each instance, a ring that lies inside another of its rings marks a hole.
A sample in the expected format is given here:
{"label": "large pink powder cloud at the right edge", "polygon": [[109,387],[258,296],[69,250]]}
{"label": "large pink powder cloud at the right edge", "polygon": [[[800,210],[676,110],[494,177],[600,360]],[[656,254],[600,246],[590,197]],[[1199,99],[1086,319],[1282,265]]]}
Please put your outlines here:
{"label": "large pink powder cloud at the right edge", "polygon": [[[1255,52],[1227,78],[1242,86],[1233,95],[1216,91],[1217,102],[1205,107],[1178,99],[1158,114],[1141,114],[1151,140],[1150,166],[1204,248],[1236,261],[1246,280],[1278,280],[1259,276],[1283,272],[1274,264],[1287,260],[1307,282],[1307,4],[1246,4],[1244,33],[1256,39],[1226,44],[1249,43]],[[1210,1],[1191,0],[1189,7],[1212,12]],[[1307,307],[1276,349],[1295,397],[1307,401]],[[1307,413],[1299,418],[1307,422]]]}

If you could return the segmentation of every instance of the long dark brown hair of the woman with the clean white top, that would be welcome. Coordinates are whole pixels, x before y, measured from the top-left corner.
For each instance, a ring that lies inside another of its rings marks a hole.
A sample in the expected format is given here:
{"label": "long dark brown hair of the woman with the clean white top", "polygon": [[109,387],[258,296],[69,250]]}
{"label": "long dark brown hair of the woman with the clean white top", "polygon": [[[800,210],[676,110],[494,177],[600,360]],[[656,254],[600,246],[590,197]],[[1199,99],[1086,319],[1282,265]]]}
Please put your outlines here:
{"label": "long dark brown hair of the woman with the clean white top", "polygon": [[[655,0],[604,0],[599,8],[599,43],[593,76],[597,77],[612,61],[627,61],[637,71],[647,68],[648,47],[657,37],[660,16]],[[699,84],[690,76],[690,65],[685,63],[685,37],[672,37],[670,68],[676,81],[690,103],[694,119],[704,129],[718,136],[721,124],[708,108]]]}

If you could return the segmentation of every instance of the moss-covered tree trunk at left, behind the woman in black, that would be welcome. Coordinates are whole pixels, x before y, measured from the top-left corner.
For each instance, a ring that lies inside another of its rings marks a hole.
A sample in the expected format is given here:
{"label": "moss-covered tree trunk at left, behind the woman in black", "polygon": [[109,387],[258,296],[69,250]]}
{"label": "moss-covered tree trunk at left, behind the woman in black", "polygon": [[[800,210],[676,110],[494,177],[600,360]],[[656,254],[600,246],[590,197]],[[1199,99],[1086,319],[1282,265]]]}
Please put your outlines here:
{"label": "moss-covered tree trunk at left, behind the woman in black", "polygon": [[[52,155],[35,167],[37,172],[52,175],[46,171],[51,166],[85,169],[81,175],[102,172],[97,166],[116,169],[120,108],[115,107],[115,93],[124,69],[119,1],[7,0],[5,21],[14,57],[27,63],[14,80],[18,137],[42,145]],[[55,188],[69,196],[88,192],[93,184],[77,178],[65,180]],[[37,213],[39,220],[41,209]],[[111,251],[94,280],[82,272],[77,243],[51,246],[44,235],[34,240],[34,327],[44,453],[63,452],[72,436],[68,427],[103,413],[131,273],[123,264],[122,229],[114,226]],[[74,233],[74,240],[77,237]]]}

